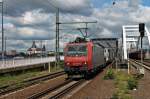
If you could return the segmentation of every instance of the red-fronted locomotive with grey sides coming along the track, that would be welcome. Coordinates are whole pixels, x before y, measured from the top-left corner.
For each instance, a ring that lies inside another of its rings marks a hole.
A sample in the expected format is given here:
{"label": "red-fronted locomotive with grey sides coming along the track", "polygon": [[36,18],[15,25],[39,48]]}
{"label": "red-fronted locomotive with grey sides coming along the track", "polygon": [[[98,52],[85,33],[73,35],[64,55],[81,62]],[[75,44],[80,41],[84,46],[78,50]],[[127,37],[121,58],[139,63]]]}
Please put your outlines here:
{"label": "red-fronted locomotive with grey sides coming along the track", "polygon": [[86,40],[70,42],[64,48],[64,70],[68,77],[87,77],[104,68],[109,61],[108,49]]}

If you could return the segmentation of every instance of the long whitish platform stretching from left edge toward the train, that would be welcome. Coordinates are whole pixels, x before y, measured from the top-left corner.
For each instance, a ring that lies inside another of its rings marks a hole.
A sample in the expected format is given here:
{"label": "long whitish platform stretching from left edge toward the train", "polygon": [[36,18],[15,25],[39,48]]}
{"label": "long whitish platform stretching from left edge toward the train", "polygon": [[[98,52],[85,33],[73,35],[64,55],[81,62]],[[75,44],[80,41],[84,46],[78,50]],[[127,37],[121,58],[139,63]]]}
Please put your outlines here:
{"label": "long whitish platform stretching from left edge toward the train", "polygon": [[[64,60],[64,56],[60,56],[60,59]],[[20,69],[35,68],[42,64],[46,64],[54,61],[55,61],[55,57],[3,60],[0,61],[0,73],[20,70]]]}

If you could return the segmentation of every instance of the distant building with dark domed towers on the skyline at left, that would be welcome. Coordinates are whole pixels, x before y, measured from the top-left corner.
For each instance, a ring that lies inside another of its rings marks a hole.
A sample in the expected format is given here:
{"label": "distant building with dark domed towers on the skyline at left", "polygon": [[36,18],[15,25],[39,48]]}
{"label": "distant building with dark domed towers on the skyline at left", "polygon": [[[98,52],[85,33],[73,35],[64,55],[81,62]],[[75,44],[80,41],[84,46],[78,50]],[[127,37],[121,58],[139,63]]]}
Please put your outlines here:
{"label": "distant building with dark domed towers on the skyline at left", "polygon": [[42,48],[38,48],[33,41],[32,46],[27,50],[28,55],[36,55],[36,54],[43,54],[46,51],[45,45]]}

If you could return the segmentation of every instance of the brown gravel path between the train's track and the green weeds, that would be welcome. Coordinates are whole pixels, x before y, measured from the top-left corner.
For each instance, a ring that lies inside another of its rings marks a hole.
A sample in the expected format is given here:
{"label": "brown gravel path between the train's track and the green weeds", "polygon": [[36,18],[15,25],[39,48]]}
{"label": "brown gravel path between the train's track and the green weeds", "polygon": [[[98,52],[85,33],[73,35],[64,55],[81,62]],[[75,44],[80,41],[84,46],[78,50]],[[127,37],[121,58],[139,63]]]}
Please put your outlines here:
{"label": "brown gravel path between the train's track and the green weeds", "polygon": [[112,80],[103,80],[106,69],[70,99],[110,99],[115,90]]}

